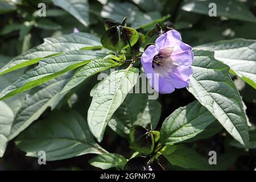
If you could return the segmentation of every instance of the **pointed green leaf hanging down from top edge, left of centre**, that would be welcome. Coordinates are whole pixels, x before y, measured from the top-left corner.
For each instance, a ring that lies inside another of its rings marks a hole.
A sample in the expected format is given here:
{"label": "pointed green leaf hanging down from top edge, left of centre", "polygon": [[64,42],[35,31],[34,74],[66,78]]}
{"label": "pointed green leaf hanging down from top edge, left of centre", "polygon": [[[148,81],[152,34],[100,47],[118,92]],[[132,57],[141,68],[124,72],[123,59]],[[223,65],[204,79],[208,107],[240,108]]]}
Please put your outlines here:
{"label": "pointed green leaf hanging down from top edge, left of centre", "polygon": [[87,0],[52,0],[52,2],[74,16],[85,27],[89,25],[89,5]]}

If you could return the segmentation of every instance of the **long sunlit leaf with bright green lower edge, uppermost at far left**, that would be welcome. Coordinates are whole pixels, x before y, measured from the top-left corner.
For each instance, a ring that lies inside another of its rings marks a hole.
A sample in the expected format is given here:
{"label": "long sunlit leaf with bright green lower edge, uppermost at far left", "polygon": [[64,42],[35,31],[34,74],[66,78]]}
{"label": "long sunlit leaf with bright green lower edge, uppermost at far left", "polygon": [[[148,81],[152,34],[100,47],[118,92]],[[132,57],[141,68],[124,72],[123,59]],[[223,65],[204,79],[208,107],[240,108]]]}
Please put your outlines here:
{"label": "long sunlit leaf with bright green lower edge, uppermost at far left", "polygon": [[22,55],[14,57],[10,63],[0,69],[0,75],[38,63],[39,60],[42,60],[47,56],[54,56],[62,52],[81,48],[93,49],[100,47],[100,39],[87,33],[80,32],[76,34],[46,38],[44,39],[43,44],[28,50]]}

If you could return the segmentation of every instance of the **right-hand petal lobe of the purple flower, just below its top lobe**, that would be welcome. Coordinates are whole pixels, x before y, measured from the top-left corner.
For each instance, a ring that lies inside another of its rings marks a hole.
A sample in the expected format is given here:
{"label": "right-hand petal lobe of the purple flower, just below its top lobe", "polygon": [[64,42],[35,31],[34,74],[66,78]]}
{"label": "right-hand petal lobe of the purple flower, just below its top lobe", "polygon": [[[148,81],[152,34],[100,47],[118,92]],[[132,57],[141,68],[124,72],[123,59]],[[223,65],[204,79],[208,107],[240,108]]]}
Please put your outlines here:
{"label": "right-hand petal lobe of the purple flower, just below its top lobe", "polygon": [[191,50],[179,53],[178,55],[171,55],[174,64],[180,66],[190,66],[193,63],[194,54]]}

